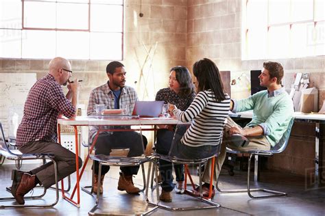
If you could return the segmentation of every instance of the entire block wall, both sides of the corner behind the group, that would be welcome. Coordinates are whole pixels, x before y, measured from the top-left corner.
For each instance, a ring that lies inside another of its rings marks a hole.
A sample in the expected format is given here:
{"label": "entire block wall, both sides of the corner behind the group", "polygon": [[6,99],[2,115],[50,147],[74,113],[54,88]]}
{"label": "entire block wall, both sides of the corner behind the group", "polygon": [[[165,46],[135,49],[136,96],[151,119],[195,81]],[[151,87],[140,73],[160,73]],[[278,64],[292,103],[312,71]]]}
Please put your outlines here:
{"label": "entire block wall, both sides of the corner behind the group", "polygon": [[[241,61],[241,2],[142,0],[140,7],[140,0],[126,0],[123,64],[128,71],[127,84],[136,87],[139,98],[153,99],[160,88],[167,86],[169,68],[185,65],[191,70],[193,63],[203,57],[213,59],[220,70],[230,70],[232,78],[241,73],[249,75],[250,70],[261,69],[267,59]],[[142,18],[139,16],[140,8]],[[147,51],[153,51],[156,42],[153,70],[149,71],[149,64],[143,67],[146,57],[143,44]],[[322,106],[325,98],[324,57],[275,60],[285,67],[283,83],[287,89],[295,72],[311,72],[311,86],[320,90],[319,105]],[[84,80],[80,103],[87,105],[91,89],[106,82],[105,68],[108,62],[71,62],[73,75]],[[40,78],[46,74],[48,63],[48,60],[42,59],[0,59],[0,72],[36,72]],[[143,79],[139,81],[142,67],[145,83]],[[247,91],[248,89],[244,92],[232,92],[232,95],[243,97],[248,94]],[[313,124],[295,124],[292,133],[294,135],[304,129],[313,130]],[[311,165],[315,152],[312,136],[313,134],[308,140],[291,138],[285,154],[279,154],[269,160],[270,168],[303,174],[304,169]],[[300,165],[296,166],[298,163]]]}

